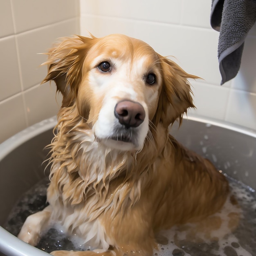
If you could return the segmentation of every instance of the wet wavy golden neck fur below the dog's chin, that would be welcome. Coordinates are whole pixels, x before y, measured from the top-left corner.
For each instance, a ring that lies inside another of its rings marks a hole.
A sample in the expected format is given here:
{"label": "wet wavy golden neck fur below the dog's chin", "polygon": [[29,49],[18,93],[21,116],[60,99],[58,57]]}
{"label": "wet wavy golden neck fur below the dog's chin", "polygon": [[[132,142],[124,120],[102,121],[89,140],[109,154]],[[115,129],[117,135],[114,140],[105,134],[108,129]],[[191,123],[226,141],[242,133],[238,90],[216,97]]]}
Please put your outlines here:
{"label": "wet wavy golden neck fur below the dog's chin", "polygon": [[115,193],[119,184],[124,189],[127,183],[124,197],[130,198],[131,203],[137,202],[145,186],[144,174],[154,168],[149,163],[154,163],[153,159],[163,151],[168,132],[159,126],[148,136],[140,152],[124,152],[97,141],[90,125],[76,111],[74,107],[63,108],[58,115],[58,132],[51,144],[50,160],[54,186],[50,185],[49,190],[58,188],[52,194],[61,195],[64,204],[74,205],[91,196],[106,197]]}

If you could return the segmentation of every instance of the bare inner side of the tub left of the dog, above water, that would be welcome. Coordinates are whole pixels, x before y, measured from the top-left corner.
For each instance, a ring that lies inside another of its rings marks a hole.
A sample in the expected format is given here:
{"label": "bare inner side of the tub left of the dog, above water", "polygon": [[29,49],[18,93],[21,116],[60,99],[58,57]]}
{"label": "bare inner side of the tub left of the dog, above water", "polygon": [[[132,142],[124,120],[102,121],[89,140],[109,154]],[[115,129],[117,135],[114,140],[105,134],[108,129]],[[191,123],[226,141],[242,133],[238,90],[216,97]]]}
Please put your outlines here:
{"label": "bare inner side of the tub left of the dog, above water", "polygon": [[24,142],[0,161],[0,194],[8,195],[8,200],[5,196],[0,197],[0,225],[3,225],[19,195],[47,175],[43,161],[47,159],[49,150],[44,147],[52,136],[52,130],[47,130]]}

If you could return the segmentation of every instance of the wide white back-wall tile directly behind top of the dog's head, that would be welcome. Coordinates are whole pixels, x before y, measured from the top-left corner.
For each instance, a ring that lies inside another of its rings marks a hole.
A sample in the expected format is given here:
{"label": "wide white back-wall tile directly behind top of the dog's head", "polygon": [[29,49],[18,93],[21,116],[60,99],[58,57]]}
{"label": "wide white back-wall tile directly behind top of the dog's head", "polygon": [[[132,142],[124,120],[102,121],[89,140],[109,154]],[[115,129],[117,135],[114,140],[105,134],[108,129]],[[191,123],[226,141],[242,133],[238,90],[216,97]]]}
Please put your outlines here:
{"label": "wide white back-wall tile directly behind top of the dog's head", "polygon": [[[108,24],[108,26],[102,26]],[[177,25],[119,20],[116,18],[83,15],[81,34],[86,30],[95,36],[121,33],[144,40],[159,54],[175,56],[186,72],[202,77],[207,83],[220,85],[217,58],[218,32]],[[225,84],[229,87],[230,83]]]}

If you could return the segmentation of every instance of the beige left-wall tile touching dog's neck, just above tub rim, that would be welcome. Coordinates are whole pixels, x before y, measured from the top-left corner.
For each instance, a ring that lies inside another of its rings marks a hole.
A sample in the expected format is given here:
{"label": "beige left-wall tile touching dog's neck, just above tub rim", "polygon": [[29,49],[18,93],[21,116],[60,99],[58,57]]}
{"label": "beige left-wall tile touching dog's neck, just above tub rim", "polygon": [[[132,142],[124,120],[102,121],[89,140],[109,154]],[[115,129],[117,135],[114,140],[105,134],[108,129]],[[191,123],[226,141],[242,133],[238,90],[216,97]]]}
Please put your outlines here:
{"label": "beige left-wall tile touching dog's neck, just above tub rim", "polygon": [[56,86],[44,83],[24,92],[25,109],[28,124],[36,124],[46,118],[56,116],[62,101],[62,95],[56,95]]}

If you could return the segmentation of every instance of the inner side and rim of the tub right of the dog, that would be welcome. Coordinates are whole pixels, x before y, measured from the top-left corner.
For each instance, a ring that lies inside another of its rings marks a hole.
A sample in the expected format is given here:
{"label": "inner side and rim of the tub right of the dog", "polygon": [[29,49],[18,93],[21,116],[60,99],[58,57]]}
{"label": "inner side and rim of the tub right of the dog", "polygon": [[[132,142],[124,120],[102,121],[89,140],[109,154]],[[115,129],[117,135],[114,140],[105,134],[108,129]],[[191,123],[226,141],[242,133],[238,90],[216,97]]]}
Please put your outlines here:
{"label": "inner side and rim of the tub right of the dog", "polygon": [[219,170],[256,189],[256,131],[200,118],[183,119],[170,133]]}

